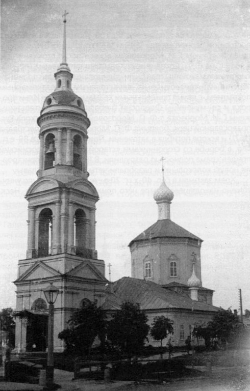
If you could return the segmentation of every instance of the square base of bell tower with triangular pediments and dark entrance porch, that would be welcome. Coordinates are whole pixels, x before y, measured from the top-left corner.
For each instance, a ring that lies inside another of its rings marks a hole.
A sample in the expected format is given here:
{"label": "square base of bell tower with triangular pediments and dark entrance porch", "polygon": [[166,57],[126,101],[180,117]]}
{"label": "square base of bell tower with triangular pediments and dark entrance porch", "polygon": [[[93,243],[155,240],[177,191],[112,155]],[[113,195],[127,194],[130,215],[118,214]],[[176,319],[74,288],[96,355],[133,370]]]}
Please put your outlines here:
{"label": "square base of bell tower with triangular pediments and dark entrance porch", "polygon": [[16,285],[15,351],[46,351],[48,304],[43,290],[53,283],[59,289],[54,304],[54,351],[62,352],[65,344],[58,334],[67,327],[73,311],[83,300],[101,306],[105,300],[105,265],[77,255],[58,254],[18,262]]}

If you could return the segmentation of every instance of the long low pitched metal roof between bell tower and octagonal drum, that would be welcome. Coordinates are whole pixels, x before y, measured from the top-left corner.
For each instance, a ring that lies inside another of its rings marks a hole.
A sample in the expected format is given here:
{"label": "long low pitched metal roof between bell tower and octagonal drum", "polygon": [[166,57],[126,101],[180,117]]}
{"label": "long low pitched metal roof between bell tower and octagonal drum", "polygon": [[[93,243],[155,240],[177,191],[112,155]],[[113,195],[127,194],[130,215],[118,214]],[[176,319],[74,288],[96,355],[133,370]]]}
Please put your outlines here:
{"label": "long low pitched metal roof between bell tower and octagonal drum", "polygon": [[[114,282],[113,293],[116,296],[115,305],[119,302],[132,301],[139,303],[142,310],[167,310],[180,309],[191,311],[216,312],[217,307],[202,301],[191,300],[190,297],[172,290],[162,288],[152,281],[139,280],[138,278],[122,277]],[[114,309],[109,306],[108,297],[105,309]]]}

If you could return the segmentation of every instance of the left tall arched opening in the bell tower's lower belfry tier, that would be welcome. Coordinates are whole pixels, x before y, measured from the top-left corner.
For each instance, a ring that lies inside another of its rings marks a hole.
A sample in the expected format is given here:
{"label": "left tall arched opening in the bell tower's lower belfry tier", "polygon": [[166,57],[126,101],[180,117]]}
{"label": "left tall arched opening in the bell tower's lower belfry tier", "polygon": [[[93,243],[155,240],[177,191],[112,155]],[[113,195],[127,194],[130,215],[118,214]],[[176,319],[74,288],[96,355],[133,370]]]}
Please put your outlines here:
{"label": "left tall arched opening in the bell tower's lower belfry tier", "polygon": [[38,256],[51,255],[53,236],[52,210],[43,209],[39,214]]}

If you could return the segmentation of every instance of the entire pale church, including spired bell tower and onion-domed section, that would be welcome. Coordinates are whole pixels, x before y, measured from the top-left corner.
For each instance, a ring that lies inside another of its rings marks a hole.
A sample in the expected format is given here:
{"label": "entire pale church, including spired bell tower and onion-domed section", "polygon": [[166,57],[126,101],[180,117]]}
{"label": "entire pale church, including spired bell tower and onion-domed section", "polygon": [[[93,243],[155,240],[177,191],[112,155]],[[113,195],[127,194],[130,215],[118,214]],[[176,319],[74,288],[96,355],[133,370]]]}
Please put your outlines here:
{"label": "entire pale church, including spired bell tower and onion-domed section", "polygon": [[[108,314],[123,301],[139,303],[149,323],[158,315],[172,319],[174,344],[184,343],[195,324],[212,319],[213,291],[202,286],[202,239],[170,219],[172,191],[164,180],[154,194],[158,220],[130,244],[132,277],[108,284],[105,264],[95,248],[98,193],[89,181],[87,141],[90,120],[72,90],[66,61],[63,19],[62,62],[55,89],[44,99],[39,126],[37,180],[26,193],[28,246],[19,260],[16,286],[16,350],[45,351],[48,304],[44,289],[59,290],[54,309],[54,350],[63,351],[58,333],[72,312],[95,301]],[[153,343],[153,342],[152,342]],[[158,342],[157,342],[158,344]]]}

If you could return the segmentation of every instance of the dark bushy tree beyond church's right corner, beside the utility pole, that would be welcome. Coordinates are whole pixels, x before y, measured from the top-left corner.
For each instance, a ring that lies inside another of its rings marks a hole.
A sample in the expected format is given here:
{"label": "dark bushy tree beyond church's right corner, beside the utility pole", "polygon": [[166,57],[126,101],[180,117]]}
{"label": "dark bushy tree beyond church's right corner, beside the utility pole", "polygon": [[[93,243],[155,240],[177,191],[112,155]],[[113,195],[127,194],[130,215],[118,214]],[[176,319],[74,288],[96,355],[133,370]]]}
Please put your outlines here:
{"label": "dark bushy tree beyond church's right corner, beside the utility pole", "polygon": [[226,347],[241,329],[238,316],[230,308],[228,310],[220,308],[214,315],[213,320],[208,323],[208,327],[215,337],[226,343]]}

